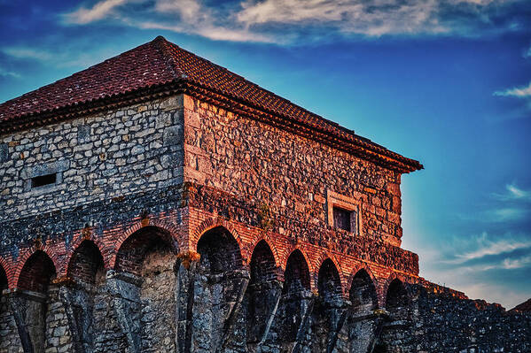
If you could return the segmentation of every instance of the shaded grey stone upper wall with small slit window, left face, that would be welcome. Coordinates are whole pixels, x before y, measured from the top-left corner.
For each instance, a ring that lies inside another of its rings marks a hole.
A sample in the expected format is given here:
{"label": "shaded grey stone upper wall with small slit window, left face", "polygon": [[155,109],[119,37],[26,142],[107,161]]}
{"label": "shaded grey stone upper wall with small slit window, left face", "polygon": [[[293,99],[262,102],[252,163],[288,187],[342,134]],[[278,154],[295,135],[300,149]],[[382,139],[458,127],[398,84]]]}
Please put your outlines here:
{"label": "shaded grey stone upper wall with small slit window, left face", "polygon": [[174,96],[0,136],[0,221],[182,183],[182,104]]}

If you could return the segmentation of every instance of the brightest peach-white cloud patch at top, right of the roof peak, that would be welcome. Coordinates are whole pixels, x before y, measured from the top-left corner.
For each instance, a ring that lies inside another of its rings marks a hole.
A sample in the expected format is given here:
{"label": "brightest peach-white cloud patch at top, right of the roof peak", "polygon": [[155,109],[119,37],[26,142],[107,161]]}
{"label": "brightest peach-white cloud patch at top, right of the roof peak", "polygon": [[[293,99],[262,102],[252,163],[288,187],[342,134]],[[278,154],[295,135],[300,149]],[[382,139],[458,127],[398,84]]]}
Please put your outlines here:
{"label": "brightest peach-white cloud patch at top, right of the roof peak", "polygon": [[451,28],[441,26],[436,16],[438,3],[436,0],[401,4],[390,0],[249,0],[242,4],[237,19],[247,27],[267,23],[317,23],[336,27],[343,33],[367,36],[449,32]]}

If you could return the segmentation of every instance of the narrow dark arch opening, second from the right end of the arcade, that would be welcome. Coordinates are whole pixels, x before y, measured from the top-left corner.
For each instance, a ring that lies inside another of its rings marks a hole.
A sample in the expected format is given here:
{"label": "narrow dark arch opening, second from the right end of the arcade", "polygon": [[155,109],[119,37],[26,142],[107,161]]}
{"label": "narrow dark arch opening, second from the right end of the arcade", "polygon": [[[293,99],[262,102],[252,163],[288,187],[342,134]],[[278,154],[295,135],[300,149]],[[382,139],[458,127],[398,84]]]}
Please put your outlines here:
{"label": "narrow dark arch opening, second from the right end of the arcade", "polygon": [[378,294],[371,275],[365,268],[355,272],[348,291],[353,311],[365,314],[378,309]]}

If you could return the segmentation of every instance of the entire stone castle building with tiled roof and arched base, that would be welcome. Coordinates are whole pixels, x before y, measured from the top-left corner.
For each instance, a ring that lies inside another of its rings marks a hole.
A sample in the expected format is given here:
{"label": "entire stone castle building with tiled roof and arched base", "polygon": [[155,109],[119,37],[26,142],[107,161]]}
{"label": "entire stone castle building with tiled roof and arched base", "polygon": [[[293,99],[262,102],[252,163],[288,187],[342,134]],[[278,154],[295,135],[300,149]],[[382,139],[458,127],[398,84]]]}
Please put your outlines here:
{"label": "entire stone castle building with tiled roof and arched base", "polygon": [[417,161],[162,37],[0,105],[0,352],[530,352],[418,276]]}

